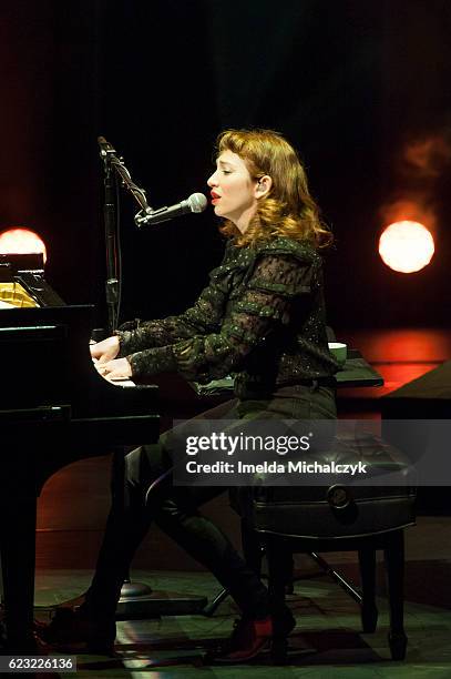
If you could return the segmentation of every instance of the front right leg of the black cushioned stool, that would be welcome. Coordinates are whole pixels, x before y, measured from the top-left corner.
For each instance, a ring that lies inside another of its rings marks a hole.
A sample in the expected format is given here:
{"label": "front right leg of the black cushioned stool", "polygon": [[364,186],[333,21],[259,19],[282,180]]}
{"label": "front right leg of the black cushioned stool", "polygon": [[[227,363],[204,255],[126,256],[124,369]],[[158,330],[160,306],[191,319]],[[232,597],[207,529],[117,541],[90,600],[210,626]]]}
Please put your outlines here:
{"label": "front right leg of the black cushioned stool", "polygon": [[390,632],[388,642],[393,660],[406,658],[404,632],[404,536],[397,530],[387,536],[385,548],[388,597],[390,605]]}

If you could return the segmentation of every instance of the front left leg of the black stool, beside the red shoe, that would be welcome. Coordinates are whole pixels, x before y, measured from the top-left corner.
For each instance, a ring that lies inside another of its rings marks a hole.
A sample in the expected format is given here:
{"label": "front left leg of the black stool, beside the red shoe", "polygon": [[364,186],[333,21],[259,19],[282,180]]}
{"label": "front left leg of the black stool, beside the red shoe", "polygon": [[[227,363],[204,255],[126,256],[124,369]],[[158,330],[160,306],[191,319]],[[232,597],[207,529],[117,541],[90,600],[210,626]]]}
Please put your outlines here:
{"label": "front left leg of the black stool, beside the red shoe", "polygon": [[[266,540],[266,558],[268,563],[268,590],[274,610],[283,610],[285,606],[285,585],[287,574],[293,572],[293,554],[283,540]],[[288,641],[286,636],[275,634],[271,642],[271,659],[275,665],[286,665]]]}

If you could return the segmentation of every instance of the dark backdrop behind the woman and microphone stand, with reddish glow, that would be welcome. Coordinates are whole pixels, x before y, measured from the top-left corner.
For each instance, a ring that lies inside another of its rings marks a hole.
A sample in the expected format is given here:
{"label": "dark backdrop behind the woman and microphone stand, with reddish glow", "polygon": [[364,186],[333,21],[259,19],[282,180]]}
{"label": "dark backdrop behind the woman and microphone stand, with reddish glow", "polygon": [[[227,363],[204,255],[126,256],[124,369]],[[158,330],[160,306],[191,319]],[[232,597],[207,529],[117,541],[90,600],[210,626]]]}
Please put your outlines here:
{"label": "dark backdrop behind the woman and microphone stand, with reddish glow", "polygon": [[[104,135],[152,206],[206,191],[227,126],[280,130],[332,226],[336,327],[449,325],[448,0],[39,0],[0,3],[0,230],[49,250],[47,278],[104,321]],[[139,231],[121,192],[122,320],[182,311],[222,252],[215,217]],[[390,219],[423,219],[417,274],[377,253]],[[98,324],[99,324],[98,323]]]}

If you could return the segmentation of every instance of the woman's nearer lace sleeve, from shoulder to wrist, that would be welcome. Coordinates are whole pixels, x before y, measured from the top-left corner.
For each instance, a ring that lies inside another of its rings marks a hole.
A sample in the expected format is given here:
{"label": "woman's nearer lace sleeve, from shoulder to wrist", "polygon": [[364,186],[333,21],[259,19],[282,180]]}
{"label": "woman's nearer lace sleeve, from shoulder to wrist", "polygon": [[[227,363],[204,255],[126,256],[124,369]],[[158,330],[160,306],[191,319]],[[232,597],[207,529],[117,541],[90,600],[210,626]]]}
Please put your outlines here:
{"label": "woman's nearer lace sleeve, from shoulder to wrist", "polygon": [[168,369],[205,383],[239,372],[246,356],[289,322],[293,298],[310,291],[310,265],[294,256],[262,256],[219,332],[177,342],[164,352],[147,349],[129,356],[133,377]]}

